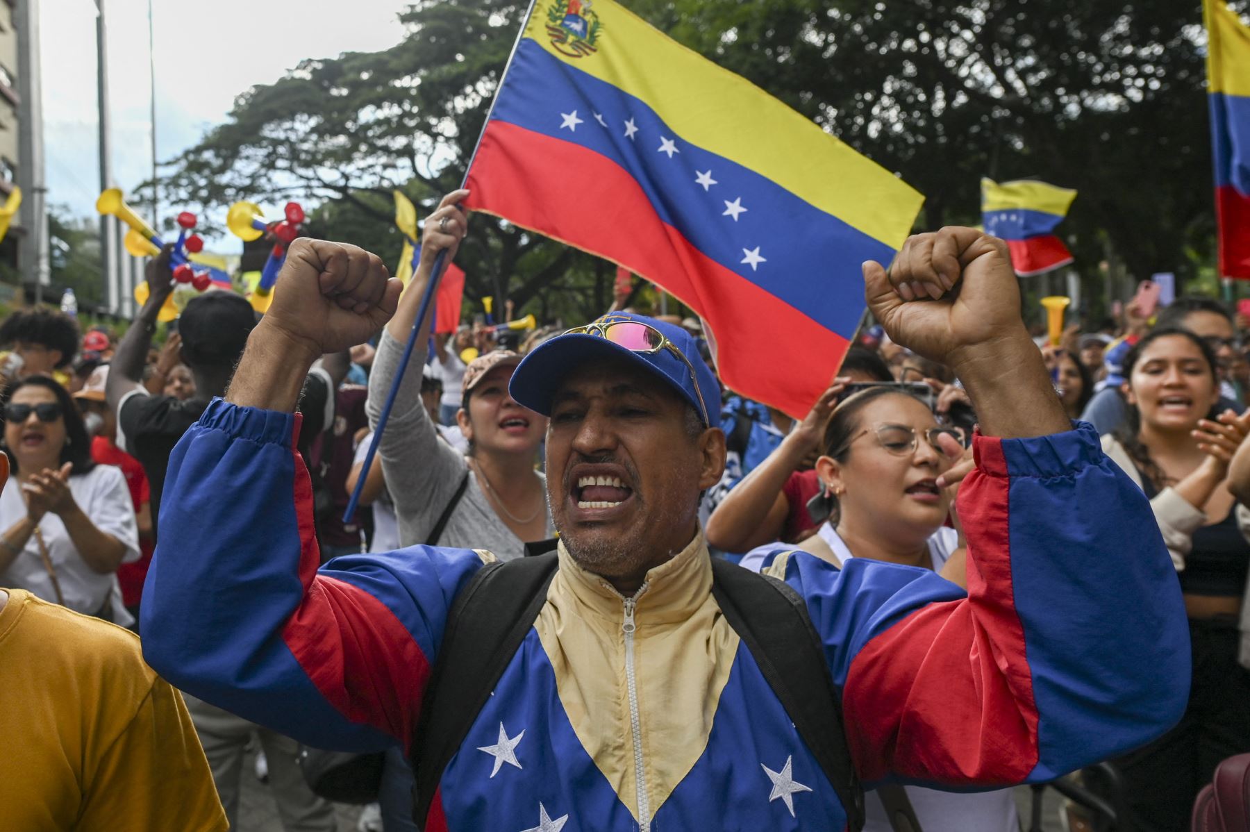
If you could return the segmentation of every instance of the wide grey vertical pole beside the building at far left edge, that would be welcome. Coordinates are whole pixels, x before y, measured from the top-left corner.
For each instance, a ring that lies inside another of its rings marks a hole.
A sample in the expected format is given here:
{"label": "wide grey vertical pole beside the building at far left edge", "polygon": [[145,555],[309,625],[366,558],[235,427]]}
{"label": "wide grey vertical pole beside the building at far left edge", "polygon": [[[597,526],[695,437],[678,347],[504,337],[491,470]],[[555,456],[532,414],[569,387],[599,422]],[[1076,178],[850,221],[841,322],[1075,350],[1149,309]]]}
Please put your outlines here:
{"label": "wide grey vertical pole beside the building at far left edge", "polygon": [[18,29],[18,94],[21,96],[18,134],[18,185],[22,191],[18,262],[35,284],[35,302],[48,281],[48,189],[44,181],[44,99],[40,84],[39,0],[21,0],[14,9]]}

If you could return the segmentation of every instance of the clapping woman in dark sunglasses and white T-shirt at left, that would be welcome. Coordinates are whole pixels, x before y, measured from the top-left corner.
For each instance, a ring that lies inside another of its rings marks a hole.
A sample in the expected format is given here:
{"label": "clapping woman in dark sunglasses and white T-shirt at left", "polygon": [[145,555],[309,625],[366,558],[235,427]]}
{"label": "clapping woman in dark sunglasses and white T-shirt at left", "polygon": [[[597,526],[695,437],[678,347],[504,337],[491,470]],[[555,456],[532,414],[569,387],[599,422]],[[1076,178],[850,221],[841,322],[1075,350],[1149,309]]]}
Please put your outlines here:
{"label": "clapping woman in dark sunglasses and white T-shirt at left", "polygon": [[14,384],[4,407],[0,586],[129,626],[115,572],[139,558],[125,477],[91,461],[69,392],[45,376]]}

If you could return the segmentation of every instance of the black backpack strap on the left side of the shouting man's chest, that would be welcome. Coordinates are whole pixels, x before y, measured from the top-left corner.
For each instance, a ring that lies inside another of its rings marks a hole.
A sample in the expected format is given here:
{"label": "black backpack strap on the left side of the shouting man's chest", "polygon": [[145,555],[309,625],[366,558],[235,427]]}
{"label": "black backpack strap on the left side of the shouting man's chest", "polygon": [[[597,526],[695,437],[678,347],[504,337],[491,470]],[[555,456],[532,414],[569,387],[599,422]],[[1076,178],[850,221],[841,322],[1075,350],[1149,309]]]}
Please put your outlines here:
{"label": "black backpack strap on the left side of the shouting man's chest", "polygon": [[539,617],[558,563],[555,552],[488,563],[451,605],[410,751],[422,830],[442,770]]}

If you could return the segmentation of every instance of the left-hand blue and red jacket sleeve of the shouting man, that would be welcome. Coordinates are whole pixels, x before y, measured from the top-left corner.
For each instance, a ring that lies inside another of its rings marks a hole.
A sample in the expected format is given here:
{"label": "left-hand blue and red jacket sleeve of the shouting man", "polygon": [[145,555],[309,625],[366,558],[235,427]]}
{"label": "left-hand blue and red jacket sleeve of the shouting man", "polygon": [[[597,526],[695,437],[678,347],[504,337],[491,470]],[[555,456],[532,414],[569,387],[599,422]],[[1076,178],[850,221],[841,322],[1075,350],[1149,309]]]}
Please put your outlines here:
{"label": "left-hand blue and red jacket sleeve of the shouting man", "polygon": [[291,414],[215,400],[170,457],[144,657],[179,688],[320,748],[406,743],[450,605],[482,557],[425,546],[318,570]]}

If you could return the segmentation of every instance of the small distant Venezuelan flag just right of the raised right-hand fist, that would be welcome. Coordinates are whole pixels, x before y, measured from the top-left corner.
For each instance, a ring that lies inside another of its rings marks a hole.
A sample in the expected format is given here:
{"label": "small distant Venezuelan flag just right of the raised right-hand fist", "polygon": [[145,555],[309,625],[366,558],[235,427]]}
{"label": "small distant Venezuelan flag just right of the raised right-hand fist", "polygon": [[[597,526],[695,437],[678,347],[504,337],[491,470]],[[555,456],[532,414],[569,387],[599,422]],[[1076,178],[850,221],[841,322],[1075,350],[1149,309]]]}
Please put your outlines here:
{"label": "small distant Venezuelan flag just right of the raised right-hand fist", "polygon": [[989,234],[1006,240],[1018,275],[1041,275],[1072,261],[1072,252],[1054,231],[1074,199],[1076,191],[1046,182],[982,179],[981,221]]}

